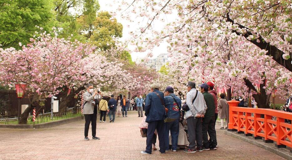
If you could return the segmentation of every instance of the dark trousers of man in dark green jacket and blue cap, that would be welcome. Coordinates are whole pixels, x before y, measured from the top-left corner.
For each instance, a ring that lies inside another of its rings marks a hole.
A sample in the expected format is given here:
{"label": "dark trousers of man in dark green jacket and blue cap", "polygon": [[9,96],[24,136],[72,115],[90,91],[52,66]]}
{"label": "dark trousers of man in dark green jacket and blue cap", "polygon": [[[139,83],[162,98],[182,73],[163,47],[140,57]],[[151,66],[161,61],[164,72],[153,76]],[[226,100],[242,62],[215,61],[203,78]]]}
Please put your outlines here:
{"label": "dark trousers of man in dark green jacket and blue cap", "polygon": [[[217,139],[216,139],[216,132],[215,132],[215,128],[214,128],[214,116],[203,118],[202,127],[203,127],[202,134],[203,134],[204,147],[205,148],[210,148],[210,146],[216,147]],[[207,132],[209,133],[210,138],[212,139],[211,144],[209,144]]]}

